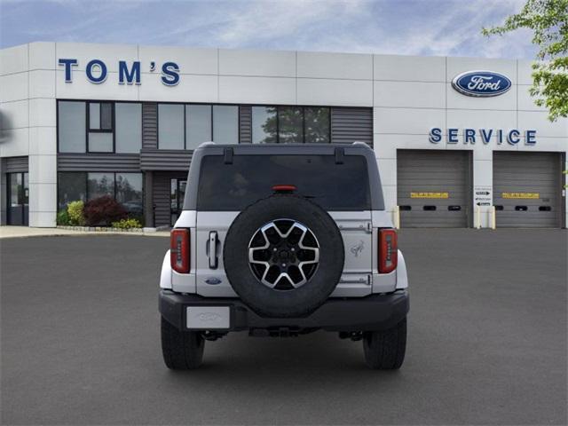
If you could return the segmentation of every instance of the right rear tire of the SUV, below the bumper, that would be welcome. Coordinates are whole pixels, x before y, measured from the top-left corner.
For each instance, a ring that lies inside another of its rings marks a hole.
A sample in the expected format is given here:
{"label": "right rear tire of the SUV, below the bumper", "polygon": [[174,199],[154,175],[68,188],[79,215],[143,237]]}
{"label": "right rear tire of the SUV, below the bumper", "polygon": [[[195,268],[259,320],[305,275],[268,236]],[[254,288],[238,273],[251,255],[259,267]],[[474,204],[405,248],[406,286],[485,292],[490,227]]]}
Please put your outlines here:
{"label": "right rear tire of the SUV, below the bumper", "polygon": [[402,366],[406,352],[406,317],[396,326],[363,335],[367,366],[375,370],[396,370]]}

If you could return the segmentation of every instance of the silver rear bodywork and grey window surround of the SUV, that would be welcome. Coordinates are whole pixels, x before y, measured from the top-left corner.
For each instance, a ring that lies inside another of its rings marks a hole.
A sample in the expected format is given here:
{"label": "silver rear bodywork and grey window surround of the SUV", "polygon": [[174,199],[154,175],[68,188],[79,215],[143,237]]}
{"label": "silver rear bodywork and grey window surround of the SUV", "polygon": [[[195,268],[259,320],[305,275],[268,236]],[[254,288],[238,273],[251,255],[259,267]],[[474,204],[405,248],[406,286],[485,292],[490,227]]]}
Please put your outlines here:
{"label": "silver rear bodywork and grey window surround of the SUV", "polygon": [[[169,252],[162,262],[161,288],[179,293],[205,297],[238,297],[231,287],[223,264],[223,245],[226,233],[239,211],[198,211],[195,193],[199,187],[199,162],[204,155],[265,153],[265,154],[330,154],[337,146],[200,146],[193,155],[189,172],[185,209],[175,227],[190,231],[190,272],[171,270]],[[343,154],[361,154],[367,157],[371,180],[372,205],[375,209],[362,211],[329,211],[343,237],[345,263],[341,279],[331,297],[362,297],[389,293],[407,288],[406,263],[398,251],[398,268],[390,273],[378,271],[378,235],[381,228],[392,228],[390,214],[383,207],[383,192],[375,156],[367,146],[340,147]],[[335,151],[334,151],[335,150]],[[192,192],[193,188],[193,192]],[[377,209],[378,208],[378,209]],[[215,240],[212,240],[214,238]],[[217,241],[215,247],[212,241]]]}

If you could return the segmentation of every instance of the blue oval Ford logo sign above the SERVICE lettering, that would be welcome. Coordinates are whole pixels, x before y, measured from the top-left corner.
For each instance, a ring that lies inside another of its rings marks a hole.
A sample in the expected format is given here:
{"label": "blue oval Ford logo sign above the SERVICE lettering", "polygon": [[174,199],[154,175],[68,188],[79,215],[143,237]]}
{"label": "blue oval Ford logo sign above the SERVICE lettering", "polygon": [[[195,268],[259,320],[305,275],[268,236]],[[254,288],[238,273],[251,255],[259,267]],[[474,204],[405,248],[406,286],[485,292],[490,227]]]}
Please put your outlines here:
{"label": "blue oval Ford logo sign above the SERVICE lettering", "polygon": [[511,81],[505,75],[493,71],[468,71],[456,75],[452,86],[456,91],[467,96],[489,98],[509,91]]}

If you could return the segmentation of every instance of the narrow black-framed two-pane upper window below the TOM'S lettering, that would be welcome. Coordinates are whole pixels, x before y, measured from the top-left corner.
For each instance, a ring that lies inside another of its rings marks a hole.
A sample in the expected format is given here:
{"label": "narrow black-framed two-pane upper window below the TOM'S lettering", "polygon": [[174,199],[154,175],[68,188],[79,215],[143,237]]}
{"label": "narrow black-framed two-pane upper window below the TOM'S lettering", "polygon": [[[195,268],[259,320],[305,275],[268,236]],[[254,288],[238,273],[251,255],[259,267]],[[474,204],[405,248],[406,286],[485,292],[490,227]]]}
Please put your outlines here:
{"label": "narrow black-framed two-pane upper window below the TOM'S lettering", "polygon": [[114,151],[113,104],[89,102],[89,152],[112,153]]}

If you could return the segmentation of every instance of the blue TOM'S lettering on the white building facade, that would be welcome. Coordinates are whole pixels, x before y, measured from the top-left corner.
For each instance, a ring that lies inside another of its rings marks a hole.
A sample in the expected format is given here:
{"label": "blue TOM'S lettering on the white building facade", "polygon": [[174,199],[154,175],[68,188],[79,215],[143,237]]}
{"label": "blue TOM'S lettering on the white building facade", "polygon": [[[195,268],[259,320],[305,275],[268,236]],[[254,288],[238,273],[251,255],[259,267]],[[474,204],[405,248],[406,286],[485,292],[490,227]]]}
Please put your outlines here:
{"label": "blue TOM'S lettering on the white building facade", "polygon": [[[58,60],[59,67],[65,69],[65,83],[73,83],[74,67],[79,65],[77,59],[61,58]],[[142,83],[141,63],[139,60],[127,62],[118,61],[118,83],[119,84],[140,84]],[[162,83],[166,86],[175,86],[179,83],[179,67],[175,62],[164,62],[160,67],[154,61],[148,64],[148,73],[160,72]],[[87,80],[94,84],[104,83],[108,76],[106,63],[100,59],[91,59],[85,65],[85,76]]]}

